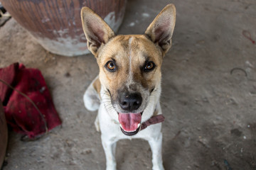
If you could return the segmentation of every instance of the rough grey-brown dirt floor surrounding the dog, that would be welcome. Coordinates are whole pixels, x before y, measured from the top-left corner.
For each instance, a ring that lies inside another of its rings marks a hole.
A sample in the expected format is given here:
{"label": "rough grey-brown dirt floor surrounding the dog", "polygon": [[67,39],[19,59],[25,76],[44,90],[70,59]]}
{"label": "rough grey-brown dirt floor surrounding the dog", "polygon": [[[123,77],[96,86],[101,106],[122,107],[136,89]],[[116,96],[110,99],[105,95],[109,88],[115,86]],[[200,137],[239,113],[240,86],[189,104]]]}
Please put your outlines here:
{"label": "rough grey-brown dirt floor surrounding the dog", "polygon": [[[256,169],[256,45],[242,35],[256,40],[255,0],[129,0],[119,33],[144,33],[169,3],[177,21],[162,67],[165,169]],[[50,54],[11,19],[0,28],[0,67],[13,62],[41,69],[63,125],[34,142],[9,132],[4,170],[105,169],[96,112],[82,103],[94,57]],[[147,142],[119,141],[117,169],[151,169]]]}

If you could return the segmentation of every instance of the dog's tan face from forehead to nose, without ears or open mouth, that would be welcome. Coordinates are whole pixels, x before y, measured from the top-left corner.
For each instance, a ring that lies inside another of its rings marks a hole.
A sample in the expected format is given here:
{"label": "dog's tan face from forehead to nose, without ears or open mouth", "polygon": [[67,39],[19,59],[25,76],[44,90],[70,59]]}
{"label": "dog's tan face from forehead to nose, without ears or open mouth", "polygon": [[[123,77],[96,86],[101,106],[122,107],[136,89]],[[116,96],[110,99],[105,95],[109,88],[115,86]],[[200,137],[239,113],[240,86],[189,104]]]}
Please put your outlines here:
{"label": "dog's tan face from forehead to nose, without ears or open mouth", "polygon": [[142,113],[161,80],[161,50],[144,35],[119,35],[99,52],[100,80],[118,113]]}

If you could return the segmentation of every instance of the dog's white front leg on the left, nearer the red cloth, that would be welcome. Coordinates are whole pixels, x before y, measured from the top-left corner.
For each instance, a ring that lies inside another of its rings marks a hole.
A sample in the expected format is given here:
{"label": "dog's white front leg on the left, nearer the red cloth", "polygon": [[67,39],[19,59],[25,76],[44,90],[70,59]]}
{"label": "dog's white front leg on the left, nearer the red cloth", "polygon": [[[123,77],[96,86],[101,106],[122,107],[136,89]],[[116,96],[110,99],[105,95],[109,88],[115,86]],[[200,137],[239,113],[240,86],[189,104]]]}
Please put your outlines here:
{"label": "dog's white front leg on the left, nearer the red cloth", "polygon": [[115,156],[115,149],[117,147],[117,142],[112,141],[107,137],[104,137],[104,135],[102,135],[101,138],[102,138],[102,146],[106,156],[106,169],[116,170],[117,163],[114,156]]}

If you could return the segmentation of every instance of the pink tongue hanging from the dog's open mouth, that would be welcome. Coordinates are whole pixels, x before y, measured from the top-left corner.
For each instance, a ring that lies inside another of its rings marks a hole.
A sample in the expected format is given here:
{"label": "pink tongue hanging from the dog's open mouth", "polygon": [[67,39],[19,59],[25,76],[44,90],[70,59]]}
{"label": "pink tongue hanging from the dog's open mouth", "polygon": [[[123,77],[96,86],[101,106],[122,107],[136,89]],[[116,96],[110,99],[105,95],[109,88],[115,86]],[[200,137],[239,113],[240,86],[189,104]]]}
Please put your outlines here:
{"label": "pink tongue hanging from the dog's open mouth", "polygon": [[122,125],[123,130],[130,132],[137,130],[138,124],[142,121],[141,113],[119,113],[119,123]]}

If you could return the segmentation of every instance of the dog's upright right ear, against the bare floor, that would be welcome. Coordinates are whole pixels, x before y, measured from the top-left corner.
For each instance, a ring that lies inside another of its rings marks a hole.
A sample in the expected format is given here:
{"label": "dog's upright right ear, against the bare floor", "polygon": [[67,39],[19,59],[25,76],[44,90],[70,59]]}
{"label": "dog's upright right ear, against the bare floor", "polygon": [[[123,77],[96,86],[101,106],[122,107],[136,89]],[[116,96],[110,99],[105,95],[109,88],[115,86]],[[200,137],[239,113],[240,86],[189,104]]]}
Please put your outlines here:
{"label": "dog's upright right ear, against the bare floor", "polygon": [[145,34],[156,45],[161,47],[163,55],[171,47],[171,37],[174,33],[176,21],[176,8],[174,4],[169,4],[154,18],[154,21],[146,29]]}

